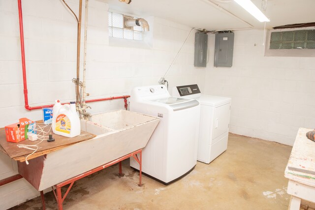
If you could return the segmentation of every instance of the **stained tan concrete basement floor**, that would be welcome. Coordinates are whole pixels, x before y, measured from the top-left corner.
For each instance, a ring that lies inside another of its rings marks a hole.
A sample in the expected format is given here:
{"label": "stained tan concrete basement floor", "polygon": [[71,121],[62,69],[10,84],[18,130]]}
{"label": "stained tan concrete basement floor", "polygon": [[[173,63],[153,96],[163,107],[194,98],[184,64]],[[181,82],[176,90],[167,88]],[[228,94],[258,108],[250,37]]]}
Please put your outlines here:
{"label": "stained tan concrete basement floor", "polygon": [[[186,177],[163,185],[123,162],[78,180],[63,203],[65,210],[287,210],[284,169],[292,147],[229,134],[228,148],[212,163],[197,162]],[[64,187],[65,188],[65,187]],[[63,189],[65,191],[65,189]],[[46,209],[57,209],[52,192]],[[11,210],[39,210],[40,197]]]}

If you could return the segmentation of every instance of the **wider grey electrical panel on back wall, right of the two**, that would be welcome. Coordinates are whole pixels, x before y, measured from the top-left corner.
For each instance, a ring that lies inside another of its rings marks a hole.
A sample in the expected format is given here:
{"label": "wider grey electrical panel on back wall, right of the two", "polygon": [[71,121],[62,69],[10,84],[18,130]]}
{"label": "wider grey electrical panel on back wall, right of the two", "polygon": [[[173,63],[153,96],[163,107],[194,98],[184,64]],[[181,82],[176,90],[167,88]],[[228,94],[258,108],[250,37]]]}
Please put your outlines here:
{"label": "wider grey electrical panel on back wall, right of the two", "polygon": [[216,67],[231,67],[233,62],[234,33],[216,33],[215,62]]}

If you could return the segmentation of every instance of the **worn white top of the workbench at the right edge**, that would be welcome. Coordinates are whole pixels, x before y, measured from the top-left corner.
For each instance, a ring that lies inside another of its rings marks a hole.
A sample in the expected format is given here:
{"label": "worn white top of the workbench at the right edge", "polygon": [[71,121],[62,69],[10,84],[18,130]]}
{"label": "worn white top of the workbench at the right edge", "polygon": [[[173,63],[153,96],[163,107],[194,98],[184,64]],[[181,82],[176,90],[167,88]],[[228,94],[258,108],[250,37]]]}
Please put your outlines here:
{"label": "worn white top of the workbench at the right edge", "polygon": [[299,129],[284,177],[315,187],[315,142],[306,137],[306,133],[312,130]]}

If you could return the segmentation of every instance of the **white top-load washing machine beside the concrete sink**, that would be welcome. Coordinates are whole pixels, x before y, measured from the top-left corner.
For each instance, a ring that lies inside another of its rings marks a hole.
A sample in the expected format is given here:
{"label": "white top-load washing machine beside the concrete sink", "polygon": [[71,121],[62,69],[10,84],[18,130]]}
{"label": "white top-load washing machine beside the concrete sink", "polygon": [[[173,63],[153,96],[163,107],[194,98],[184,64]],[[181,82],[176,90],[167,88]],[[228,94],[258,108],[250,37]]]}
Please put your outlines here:
{"label": "white top-load washing machine beside the concrete sink", "polygon": [[[143,173],[164,184],[188,174],[197,163],[199,102],[172,97],[163,85],[134,88],[129,102],[130,111],[160,117],[142,151]],[[133,158],[130,166],[139,170]]]}

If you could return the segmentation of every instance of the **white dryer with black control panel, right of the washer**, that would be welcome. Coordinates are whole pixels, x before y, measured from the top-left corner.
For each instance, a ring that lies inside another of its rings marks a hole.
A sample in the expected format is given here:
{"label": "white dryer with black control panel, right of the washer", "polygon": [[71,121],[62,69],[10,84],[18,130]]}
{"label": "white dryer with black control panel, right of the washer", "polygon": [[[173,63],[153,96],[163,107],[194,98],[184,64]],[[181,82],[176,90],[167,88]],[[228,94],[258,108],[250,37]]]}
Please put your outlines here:
{"label": "white dryer with black control panel, right of the washer", "polygon": [[174,87],[172,94],[199,101],[201,107],[197,160],[210,163],[227,149],[231,98],[203,95],[198,85]]}

